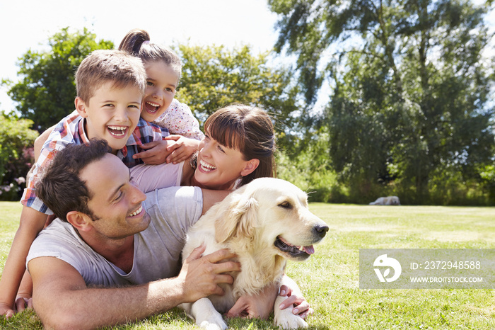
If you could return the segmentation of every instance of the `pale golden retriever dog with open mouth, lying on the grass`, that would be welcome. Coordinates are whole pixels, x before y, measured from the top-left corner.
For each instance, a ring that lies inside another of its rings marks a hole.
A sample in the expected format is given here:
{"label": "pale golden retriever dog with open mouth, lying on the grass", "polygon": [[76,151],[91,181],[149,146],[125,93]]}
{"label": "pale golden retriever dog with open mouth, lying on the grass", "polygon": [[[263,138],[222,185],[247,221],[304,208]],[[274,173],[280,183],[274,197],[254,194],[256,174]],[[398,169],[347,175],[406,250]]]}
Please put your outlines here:
{"label": "pale golden retriever dog with open mouth, lying on the grass", "polygon": [[[241,295],[255,295],[269,284],[281,284],[286,261],[309,258],[315,252],[313,244],[327,231],[327,224],[308,210],[308,198],[301,189],[277,178],[257,178],[211,207],[187,233],[182,251],[185,259],[202,243],[204,254],[230,249],[242,270],[231,274],[233,285],[222,286],[225,295],[180,307],[204,329],[227,329],[220,313],[228,312]],[[290,307],[278,308],[285,299],[276,297],[275,324],[283,329],[307,327]]]}

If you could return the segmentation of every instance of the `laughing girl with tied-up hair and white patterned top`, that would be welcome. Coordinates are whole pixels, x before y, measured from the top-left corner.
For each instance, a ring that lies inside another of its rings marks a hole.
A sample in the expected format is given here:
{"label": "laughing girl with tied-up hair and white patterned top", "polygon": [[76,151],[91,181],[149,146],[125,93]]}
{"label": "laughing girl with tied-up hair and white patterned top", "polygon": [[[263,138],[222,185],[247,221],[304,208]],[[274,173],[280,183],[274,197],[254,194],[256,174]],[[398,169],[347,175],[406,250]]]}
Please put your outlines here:
{"label": "laughing girl with tied-up hair and white patterned top", "polygon": [[[120,42],[119,50],[139,57],[146,69],[148,79],[141,118],[167,128],[170,134],[184,137],[170,140],[167,151],[173,152],[166,161],[178,163],[189,159],[204,135],[190,108],[174,98],[182,68],[180,58],[168,47],[151,43],[149,34],[140,29],[129,31]],[[136,158],[143,159],[146,164],[163,163],[163,150],[154,148],[156,145],[144,145],[143,149],[149,152],[141,152]]]}

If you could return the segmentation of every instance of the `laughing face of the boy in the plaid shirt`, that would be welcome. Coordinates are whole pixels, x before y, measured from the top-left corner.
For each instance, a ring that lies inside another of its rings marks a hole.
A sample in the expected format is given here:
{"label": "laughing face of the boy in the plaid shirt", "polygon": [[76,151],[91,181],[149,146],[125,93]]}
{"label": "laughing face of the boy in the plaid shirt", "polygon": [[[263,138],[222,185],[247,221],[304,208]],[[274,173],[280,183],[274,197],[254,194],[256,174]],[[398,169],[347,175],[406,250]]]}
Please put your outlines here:
{"label": "laughing face of the boy in the plaid shirt", "polygon": [[108,81],[97,89],[88,103],[76,98],[76,110],[86,118],[89,139],[106,140],[112,152],[122,149],[134,132],[141,115],[142,96],[136,86],[114,88]]}

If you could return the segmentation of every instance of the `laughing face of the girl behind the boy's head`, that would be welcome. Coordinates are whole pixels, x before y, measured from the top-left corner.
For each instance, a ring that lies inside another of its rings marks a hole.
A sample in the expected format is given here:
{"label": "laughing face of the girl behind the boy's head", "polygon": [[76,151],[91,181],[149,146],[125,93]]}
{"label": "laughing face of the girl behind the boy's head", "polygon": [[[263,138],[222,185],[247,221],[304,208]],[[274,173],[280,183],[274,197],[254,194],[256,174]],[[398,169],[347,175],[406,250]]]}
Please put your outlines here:
{"label": "laughing face of the girl behind the boy's head", "polygon": [[146,93],[141,117],[152,122],[167,110],[175,96],[179,75],[163,61],[146,62]]}

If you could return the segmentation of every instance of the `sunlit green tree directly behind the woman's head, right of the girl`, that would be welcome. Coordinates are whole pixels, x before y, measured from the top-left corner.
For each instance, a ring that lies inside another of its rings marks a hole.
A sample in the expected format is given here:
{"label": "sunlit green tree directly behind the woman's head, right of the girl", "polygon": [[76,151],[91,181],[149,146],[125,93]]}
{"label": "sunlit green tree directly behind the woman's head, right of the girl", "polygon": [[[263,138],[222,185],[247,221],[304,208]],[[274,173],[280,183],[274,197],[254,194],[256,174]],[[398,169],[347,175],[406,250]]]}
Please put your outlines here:
{"label": "sunlit green tree directly behind the woman's head, right of the girl", "polygon": [[267,54],[254,56],[249,46],[175,48],[183,64],[177,99],[190,106],[200,123],[229,103],[259,106],[274,117],[279,146],[293,147],[294,114],[302,101],[290,69],[270,67]]}

